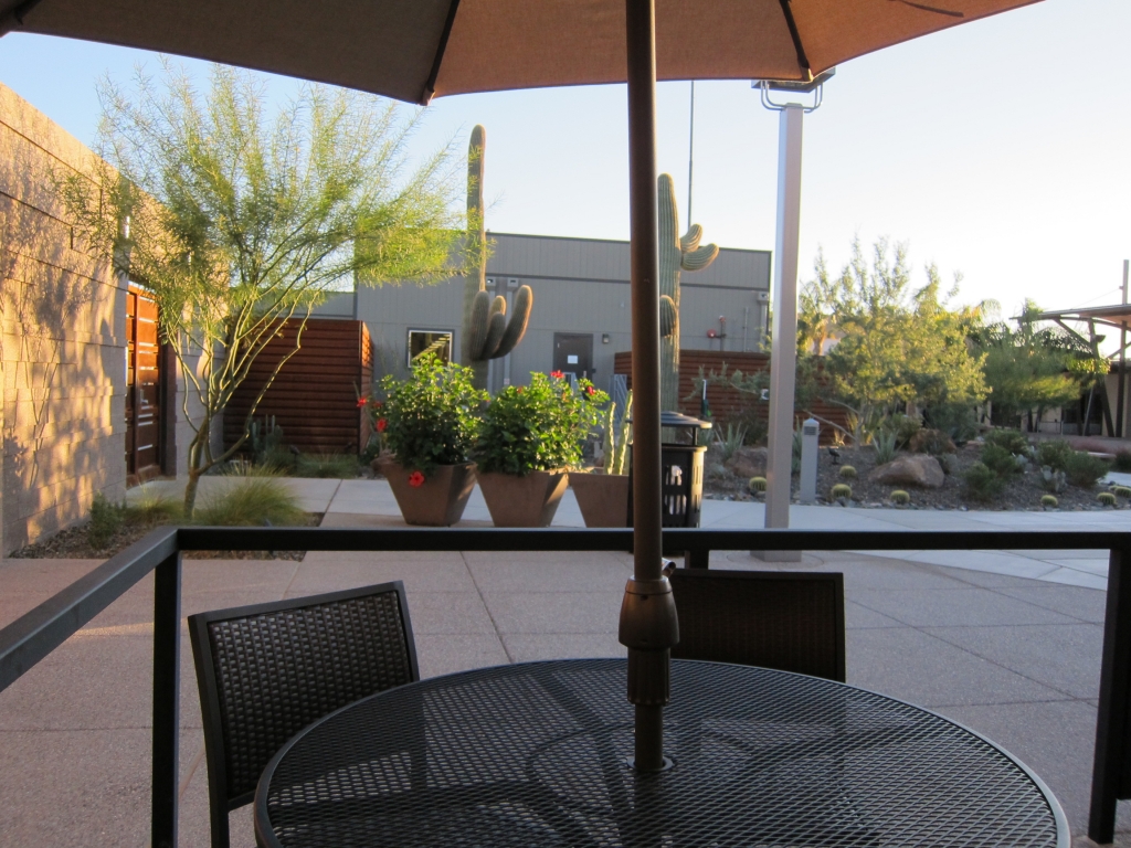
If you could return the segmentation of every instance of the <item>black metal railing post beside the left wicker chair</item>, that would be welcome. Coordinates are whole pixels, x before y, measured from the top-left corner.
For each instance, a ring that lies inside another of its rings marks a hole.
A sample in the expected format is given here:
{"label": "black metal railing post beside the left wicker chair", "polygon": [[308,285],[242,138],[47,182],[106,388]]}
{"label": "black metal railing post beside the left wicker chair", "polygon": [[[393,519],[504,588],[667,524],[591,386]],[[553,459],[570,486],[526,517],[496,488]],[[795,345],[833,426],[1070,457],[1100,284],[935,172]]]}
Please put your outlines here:
{"label": "black metal railing post beside the left wicker chair", "polygon": [[150,845],[176,846],[178,746],[181,689],[181,552],[154,574],[153,808]]}

